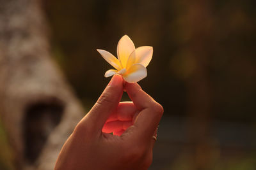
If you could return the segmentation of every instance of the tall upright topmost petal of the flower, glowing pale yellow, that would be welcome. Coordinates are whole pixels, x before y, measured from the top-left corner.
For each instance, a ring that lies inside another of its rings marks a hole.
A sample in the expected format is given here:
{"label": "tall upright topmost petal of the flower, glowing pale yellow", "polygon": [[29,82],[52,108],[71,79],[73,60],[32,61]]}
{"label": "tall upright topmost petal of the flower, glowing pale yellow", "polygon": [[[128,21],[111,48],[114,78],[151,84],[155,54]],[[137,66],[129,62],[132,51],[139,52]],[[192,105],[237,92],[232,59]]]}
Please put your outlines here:
{"label": "tall upright topmost petal of the flower, glowing pale yellow", "polygon": [[117,57],[122,68],[126,66],[128,57],[131,55],[133,50],[135,50],[135,46],[129,36],[125,35],[118,41]]}

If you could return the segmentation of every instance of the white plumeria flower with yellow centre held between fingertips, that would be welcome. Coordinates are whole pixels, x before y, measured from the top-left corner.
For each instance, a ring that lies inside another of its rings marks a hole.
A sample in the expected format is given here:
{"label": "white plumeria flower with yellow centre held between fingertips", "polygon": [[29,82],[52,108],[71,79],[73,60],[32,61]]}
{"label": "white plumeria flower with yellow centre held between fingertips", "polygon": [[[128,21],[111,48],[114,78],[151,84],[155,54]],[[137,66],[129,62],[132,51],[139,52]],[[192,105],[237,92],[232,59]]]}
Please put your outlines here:
{"label": "white plumeria flower with yellow centre held between fingertips", "polygon": [[121,74],[129,83],[138,82],[147,76],[147,69],[153,55],[152,46],[135,46],[129,36],[123,36],[117,45],[117,57],[105,50],[97,51],[115,69],[109,69],[105,77]]}

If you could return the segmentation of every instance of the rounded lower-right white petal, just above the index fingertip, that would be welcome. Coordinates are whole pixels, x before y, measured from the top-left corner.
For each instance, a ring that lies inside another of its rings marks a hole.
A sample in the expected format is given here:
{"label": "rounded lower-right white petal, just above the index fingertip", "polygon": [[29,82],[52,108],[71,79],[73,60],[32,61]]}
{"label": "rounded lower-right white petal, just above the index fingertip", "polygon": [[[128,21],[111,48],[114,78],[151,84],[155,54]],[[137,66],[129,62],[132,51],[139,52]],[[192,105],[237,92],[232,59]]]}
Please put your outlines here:
{"label": "rounded lower-right white petal, just above the index fingertip", "polygon": [[128,83],[135,83],[147,76],[147,69],[142,64],[133,64],[123,75]]}

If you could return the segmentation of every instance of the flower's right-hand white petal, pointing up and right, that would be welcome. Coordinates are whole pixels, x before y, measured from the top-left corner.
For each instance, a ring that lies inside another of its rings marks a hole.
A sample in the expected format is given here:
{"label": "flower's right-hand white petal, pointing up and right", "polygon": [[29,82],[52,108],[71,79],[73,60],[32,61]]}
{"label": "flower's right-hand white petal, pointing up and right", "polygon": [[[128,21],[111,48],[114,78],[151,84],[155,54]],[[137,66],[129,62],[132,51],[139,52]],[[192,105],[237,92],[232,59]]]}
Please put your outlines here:
{"label": "flower's right-hand white petal, pointing up and right", "polygon": [[[147,67],[153,55],[152,46],[140,46],[136,48],[134,52],[131,53],[131,56],[134,55],[136,58],[136,63],[142,64],[144,67]],[[129,57],[130,58],[130,57]]]}

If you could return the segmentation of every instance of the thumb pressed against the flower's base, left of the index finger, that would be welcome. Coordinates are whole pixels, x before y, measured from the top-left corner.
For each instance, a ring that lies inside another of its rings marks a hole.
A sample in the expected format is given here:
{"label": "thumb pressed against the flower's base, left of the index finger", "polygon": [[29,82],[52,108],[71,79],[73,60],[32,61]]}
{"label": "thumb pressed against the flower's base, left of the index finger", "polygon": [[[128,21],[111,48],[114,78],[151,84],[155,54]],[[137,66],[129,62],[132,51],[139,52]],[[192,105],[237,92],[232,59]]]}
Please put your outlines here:
{"label": "thumb pressed against the flower's base, left of the index finger", "polygon": [[81,123],[86,122],[86,127],[90,126],[89,129],[93,133],[101,132],[109,115],[116,110],[123,91],[123,78],[119,74],[115,74]]}

